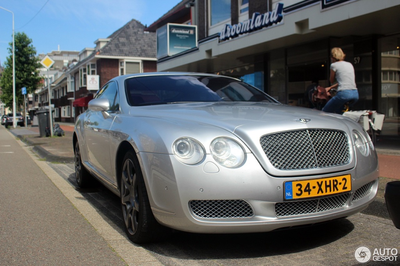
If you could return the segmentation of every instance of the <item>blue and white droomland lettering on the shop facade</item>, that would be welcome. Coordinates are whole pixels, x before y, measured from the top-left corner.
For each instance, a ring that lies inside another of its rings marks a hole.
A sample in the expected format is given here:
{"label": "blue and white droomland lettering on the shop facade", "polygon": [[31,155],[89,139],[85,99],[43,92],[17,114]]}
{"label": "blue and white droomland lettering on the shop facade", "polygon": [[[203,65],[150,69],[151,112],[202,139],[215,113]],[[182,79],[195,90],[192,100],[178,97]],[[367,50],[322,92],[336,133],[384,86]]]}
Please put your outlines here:
{"label": "blue and white droomland lettering on the shop facade", "polygon": [[276,4],[274,10],[260,14],[258,12],[253,13],[252,18],[239,22],[238,24],[230,25],[225,24],[220,32],[220,40],[228,40],[229,38],[237,37],[240,34],[252,32],[254,30],[260,30],[262,28],[277,24],[283,18],[282,15],[283,4]]}

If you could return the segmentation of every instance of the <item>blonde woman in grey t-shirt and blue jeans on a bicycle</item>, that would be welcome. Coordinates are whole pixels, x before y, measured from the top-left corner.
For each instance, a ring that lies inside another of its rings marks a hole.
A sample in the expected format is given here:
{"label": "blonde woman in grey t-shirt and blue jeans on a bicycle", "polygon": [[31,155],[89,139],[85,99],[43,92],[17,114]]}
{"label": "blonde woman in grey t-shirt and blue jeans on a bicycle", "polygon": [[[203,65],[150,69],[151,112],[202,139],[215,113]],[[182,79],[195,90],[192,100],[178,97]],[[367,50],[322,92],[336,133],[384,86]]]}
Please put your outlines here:
{"label": "blonde woman in grey t-shirt and blue jeans on a bicycle", "polygon": [[351,101],[350,106],[352,106],[358,101],[354,67],[351,63],[344,61],[345,56],[342,49],[332,48],[329,81],[333,84],[336,79],[337,83],[327,87],[326,91],[337,87],[338,92],[322,108],[324,112],[342,114],[346,102]]}

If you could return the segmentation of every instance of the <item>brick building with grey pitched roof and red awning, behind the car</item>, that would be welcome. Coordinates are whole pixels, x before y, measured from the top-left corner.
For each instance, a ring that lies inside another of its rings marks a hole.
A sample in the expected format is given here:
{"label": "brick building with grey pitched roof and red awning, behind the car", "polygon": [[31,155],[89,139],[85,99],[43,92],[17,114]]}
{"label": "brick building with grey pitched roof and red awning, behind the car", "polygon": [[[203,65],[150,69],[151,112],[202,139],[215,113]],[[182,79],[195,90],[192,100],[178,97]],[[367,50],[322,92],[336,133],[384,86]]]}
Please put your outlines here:
{"label": "brick building with grey pitched roof and red awning, behind the car", "polygon": [[144,28],[133,19],[108,38],[96,40],[94,48],[79,52],[78,60],[52,83],[55,122],[74,122],[113,77],[156,71],[155,33]]}

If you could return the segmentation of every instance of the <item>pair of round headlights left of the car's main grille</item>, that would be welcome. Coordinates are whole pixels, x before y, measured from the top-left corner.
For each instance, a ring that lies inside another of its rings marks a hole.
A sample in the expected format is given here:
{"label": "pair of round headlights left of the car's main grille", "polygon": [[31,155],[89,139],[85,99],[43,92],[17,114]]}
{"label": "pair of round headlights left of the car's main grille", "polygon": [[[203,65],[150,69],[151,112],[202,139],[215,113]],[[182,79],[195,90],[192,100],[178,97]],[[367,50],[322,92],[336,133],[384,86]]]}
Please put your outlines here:
{"label": "pair of round headlights left of the car's main grille", "polygon": [[[228,168],[238,167],[245,158],[242,146],[227,137],[214,139],[210,144],[210,151],[218,164]],[[173,152],[179,161],[188,165],[200,163],[205,155],[203,146],[189,137],[177,139],[173,145]]]}

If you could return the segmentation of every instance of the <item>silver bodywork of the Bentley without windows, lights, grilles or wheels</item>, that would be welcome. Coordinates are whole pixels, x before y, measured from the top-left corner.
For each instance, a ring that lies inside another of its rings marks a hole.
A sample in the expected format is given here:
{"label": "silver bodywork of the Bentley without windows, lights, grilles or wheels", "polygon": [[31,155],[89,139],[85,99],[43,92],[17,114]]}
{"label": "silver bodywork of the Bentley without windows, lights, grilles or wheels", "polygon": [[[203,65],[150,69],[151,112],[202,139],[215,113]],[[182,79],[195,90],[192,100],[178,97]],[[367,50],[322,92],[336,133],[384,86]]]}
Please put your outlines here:
{"label": "silver bodywork of the Bentley without windows, lights, grilles or wheels", "polygon": [[[119,88],[124,88],[127,77],[114,79]],[[119,195],[116,155],[122,143],[130,143],[139,159],[153,213],[161,224],[171,228],[211,233],[269,231],[346,217],[366,208],[376,196],[376,152],[372,143],[368,143],[368,155],[358,151],[352,131],[363,132],[363,129],[346,117],[262,102],[133,107],[128,105],[124,89],[119,89],[118,95],[119,113],[88,110],[78,117],[75,134],[82,161],[93,175]],[[260,145],[260,137],[303,129],[343,132],[350,147],[348,163],[303,170],[275,168]],[[210,155],[211,141],[222,136],[234,139],[242,146],[246,156],[239,167],[229,169],[218,165]],[[180,137],[194,138],[203,145],[206,155],[200,163],[186,165],[176,159],[172,144]],[[352,182],[352,190],[343,206],[316,213],[276,216],[276,202],[286,201],[285,181],[341,175],[351,175]],[[361,199],[352,200],[355,191],[367,183],[372,184],[370,192]],[[254,215],[247,218],[201,218],[193,214],[189,206],[191,200],[244,200]]]}

